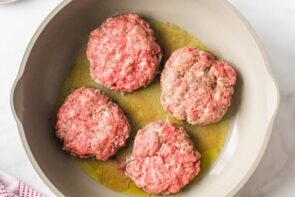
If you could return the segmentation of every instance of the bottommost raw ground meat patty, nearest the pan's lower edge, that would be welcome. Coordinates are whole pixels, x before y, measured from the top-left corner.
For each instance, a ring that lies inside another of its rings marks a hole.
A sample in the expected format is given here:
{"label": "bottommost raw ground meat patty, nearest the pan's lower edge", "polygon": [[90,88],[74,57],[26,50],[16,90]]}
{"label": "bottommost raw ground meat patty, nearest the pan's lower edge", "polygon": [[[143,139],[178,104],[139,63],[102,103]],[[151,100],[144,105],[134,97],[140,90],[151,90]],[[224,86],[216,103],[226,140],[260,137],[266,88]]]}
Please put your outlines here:
{"label": "bottommost raw ground meat patty, nearest the pan's lower edge", "polygon": [[126,175],[148,193],[173,194],[197,176],[200,158],[185,130],[152,122],[135,137]]}

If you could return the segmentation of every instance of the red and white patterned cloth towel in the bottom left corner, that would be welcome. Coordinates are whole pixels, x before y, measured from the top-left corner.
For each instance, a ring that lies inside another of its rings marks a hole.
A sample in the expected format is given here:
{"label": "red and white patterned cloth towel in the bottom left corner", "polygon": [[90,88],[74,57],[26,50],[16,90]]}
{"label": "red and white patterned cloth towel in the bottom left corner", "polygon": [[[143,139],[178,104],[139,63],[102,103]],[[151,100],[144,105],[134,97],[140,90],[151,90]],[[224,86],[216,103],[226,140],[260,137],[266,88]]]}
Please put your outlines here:
{"label": "red and white patterned cloth towel in the bottom left corner", "polygon": [[45,197],[0,169],[0,197]]}

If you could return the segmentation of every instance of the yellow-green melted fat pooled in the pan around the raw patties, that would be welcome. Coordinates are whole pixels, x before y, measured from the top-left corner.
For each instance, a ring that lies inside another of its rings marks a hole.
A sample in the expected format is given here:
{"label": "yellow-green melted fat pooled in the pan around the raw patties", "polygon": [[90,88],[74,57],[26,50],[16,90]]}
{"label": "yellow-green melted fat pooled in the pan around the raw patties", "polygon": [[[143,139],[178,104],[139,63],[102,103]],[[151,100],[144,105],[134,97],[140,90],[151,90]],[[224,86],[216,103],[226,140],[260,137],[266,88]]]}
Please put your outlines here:
{"label": "yellow-green melted fat pooled in the pan around the raw patties", "polygon": [[[148,21],[155,31],[157,42],[162,47],[162,64],[175,49],[180,47],[194,46],[207,50],[198,39],[192,37],[176,25],[155,20]],[[169,117],[160,104],[159,76],[147,88],[129,94],[121,94],[104,88],[92,81],[89,76],[89,62],[86,58],[85,48],[86,43],[65,79],[60,101],[63,101],[65,96],[73,89],[81,86],[101,89],[124,110],[130,121],[132,133],[127,145],[108,161],[102,162],[92,158],[77,159],[82,170],[99,183],[114,191],[131,195],[148,195],[136,187],[134,182],[124,175],[121,163],[132,150],[132,141],[138,129],[143,128],[146,124],[155,120],[172,120],[176,124],[186,128],[197,150],[202,154],[201,175],[204,175],[214,163],[224,145],[229,129],[228,116],[225,116],[219,123],[208,126],[193,126],[185,121],[178,121]],[[199,177],[201,178],[202,176]],[[190,183],[190,187],[200,178]]]}

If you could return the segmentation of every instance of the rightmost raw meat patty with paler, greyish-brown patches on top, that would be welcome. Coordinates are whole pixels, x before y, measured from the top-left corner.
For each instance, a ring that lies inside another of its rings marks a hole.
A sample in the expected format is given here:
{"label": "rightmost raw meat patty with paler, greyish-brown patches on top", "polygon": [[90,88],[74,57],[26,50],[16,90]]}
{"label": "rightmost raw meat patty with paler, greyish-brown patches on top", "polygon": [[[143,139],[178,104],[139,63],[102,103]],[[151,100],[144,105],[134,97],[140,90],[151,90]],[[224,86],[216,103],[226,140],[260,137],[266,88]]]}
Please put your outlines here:
{"label": "rightmost raw meat patty with paler, greyish-brown patches on top", "polygon": [[192,47],[176,50],[161,76],[161,103],[179,120],[205,125],[219,121],[230,106],[235,70],[224,60]]}

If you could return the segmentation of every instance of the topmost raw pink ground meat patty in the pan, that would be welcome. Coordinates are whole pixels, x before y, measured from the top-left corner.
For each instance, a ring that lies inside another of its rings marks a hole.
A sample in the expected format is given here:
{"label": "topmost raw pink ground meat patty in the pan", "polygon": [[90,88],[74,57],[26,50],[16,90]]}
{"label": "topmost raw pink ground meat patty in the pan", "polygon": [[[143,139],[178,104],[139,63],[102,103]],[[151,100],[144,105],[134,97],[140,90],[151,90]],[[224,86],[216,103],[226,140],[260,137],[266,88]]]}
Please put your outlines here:
{"label": "topmost raw pink ground meat patty in the pan", "polygon": [[149,24],[129,13],[109,18],[91,32],[87,57],[94,81],[132,92],[152,81],[162,54]]}

